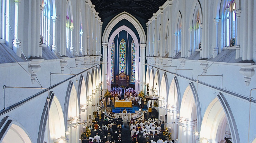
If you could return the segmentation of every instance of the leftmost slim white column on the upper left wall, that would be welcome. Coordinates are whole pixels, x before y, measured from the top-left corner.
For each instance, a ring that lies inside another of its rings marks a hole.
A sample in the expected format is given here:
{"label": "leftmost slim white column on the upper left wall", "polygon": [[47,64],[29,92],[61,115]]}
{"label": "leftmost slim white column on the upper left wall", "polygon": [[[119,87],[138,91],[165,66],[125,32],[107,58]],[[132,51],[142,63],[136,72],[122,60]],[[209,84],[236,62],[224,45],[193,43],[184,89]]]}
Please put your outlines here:
{"label": "leftmost slim white column on the upper left wall", "polygon": [[[21,55],[21,50],[20,50],[20,40],[18,40],[18,19],[19,19],[19,0],[15,0],[14,1],[14,40],[13,40],[13,46],[12,46],[12,50],[17,54],[17,56],[20,57]],[[2,15],[4,15],[2,13]],[[2,19],[3,20],[3,19]]]}

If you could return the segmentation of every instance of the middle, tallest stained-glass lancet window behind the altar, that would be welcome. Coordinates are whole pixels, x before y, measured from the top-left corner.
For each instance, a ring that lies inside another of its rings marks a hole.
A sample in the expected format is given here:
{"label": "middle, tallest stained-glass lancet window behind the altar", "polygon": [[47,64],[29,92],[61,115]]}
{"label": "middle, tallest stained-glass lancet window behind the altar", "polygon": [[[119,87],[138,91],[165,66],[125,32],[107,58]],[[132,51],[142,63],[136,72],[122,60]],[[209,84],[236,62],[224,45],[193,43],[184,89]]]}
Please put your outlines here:
{"label": "middle, tallest stained-glass lancet window behind the altar", "polygon": [[126,71],[126,42],[124,39],[121,40],[119,45],[119,74],[125,73]]}

